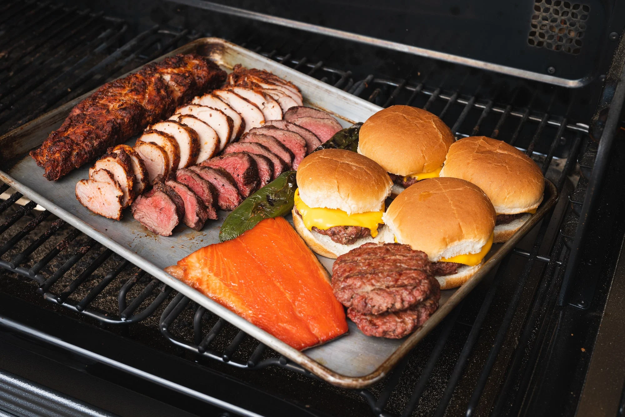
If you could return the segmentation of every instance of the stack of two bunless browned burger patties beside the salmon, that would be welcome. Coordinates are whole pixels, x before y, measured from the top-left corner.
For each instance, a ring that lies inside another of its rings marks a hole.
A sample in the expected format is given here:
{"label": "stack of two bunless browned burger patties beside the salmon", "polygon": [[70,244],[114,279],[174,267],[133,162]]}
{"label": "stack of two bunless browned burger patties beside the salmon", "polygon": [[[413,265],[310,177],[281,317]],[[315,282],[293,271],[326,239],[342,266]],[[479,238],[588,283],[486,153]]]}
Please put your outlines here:
{"label": "stack of two bunless browned burger patties beside the salmon", "polygon": [[399,339],[438,308],[441,286],[427,254],[406,244],[366,243],[339,256],[332,288],[367,336]]}

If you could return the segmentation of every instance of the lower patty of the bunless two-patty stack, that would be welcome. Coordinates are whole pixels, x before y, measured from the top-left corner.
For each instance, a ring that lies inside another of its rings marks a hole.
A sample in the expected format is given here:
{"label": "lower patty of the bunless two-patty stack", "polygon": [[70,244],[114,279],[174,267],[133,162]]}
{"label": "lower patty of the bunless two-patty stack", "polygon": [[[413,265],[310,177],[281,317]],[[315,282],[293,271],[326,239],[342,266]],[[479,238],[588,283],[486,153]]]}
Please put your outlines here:
{"label": "lower patty of the bunless two-patty stack", "polygon": [[347,317],[367,336],[401,339],[421,327],[438,308],[438,299],[427,299],[414,308],[384,314],[363,314],[347,309]]}

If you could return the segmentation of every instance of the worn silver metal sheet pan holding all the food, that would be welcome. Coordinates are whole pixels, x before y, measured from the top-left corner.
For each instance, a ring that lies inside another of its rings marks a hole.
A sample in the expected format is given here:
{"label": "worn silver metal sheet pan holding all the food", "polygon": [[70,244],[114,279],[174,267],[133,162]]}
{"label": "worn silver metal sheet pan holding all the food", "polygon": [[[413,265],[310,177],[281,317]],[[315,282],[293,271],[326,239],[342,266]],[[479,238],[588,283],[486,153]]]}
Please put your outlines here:
{"label": "worn silver metal sheet pan holding all the food", "polygon": [[[173,54],[191,52],[208,56],[227,71],[235,64],[272,71],[292,81],[301,89],[305,105],[329,111],[340,119],[342,126],[349,126],[356,121],[365,121],[371,114],[381,109],[363,99],[222,39],[197,39],[158,60]],[[202,231],[193,231],[185,226],[178,226],[173,236],[156,236],[135,221],[129,210],[124,213],[122,221],[114,221],[91,213],[76,201],[74,186],[79,179],[88,178],[88,165],[76,169],[59,181],[50,182],[43,178],[42,169],[38,168],[29,156],[24,156],[26,151],[41,144],[50,131],[58,128],[71,108],[82,98],[84,96],[2,136],[0,138],[0,152],[2,153],[0,161],[2,161],[4,171],[0,171],[0,179],[99,243],[129,259],[139,268],[143,268],[149,274],[300,364],[319,378],[346,388],[363,388],[384,378],[397,361],[436,327],[557,201],[555,186],[546,181],[546,198],[536,214],[507,243],[495,245],[484,266],[461,288],[441,291],[439,309],[432,314],[424,326],[410,336],[399,340],[367,337],[356,328],[354,323],[349,322],[349,333],[345,336],[300,352],[163,271],[163,268],[175,264],[196,249],[217,243],[219,226],[227,213],[220,212],[219,219],[209,221]],[[135,139],[129,140],[128,144],[134,144]],[[331,270],[333,259],[323,257],[319,259],[327,269]]]}

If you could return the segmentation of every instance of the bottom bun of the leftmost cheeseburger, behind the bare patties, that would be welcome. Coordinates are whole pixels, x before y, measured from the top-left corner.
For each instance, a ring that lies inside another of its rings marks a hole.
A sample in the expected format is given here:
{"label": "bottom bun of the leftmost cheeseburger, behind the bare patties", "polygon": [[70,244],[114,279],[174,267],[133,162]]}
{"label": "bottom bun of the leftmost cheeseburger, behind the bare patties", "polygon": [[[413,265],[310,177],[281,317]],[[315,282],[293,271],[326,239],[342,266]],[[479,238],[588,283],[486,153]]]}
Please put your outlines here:
{"label": "bottom bun of the leftmost cheeseburger, behind the bare patties", "polygon": [[389,229],[386,225],[382,224],[381,226],[378,226],[377,236],[375,238],[372,238],[371,236],[368,238],[361,238],[358,239],[356,243],[352,244],[336,243],[335,241],[332,241],[330,236],[308,230],[306,226],[304,226],[302,216],[295,213],[294,208],[291,210],[291,213],[293,215],[293,226],[295,226],[295,230],[299,236],[304,239],[304,242],[306,242],[308,247],[311,248],[314,253],[325,256],[326,258],[336,259],[342,254],[346,254],[352,249],[356,249],[365,243],[389,243],[393,241],[393,236],[389,233]]}

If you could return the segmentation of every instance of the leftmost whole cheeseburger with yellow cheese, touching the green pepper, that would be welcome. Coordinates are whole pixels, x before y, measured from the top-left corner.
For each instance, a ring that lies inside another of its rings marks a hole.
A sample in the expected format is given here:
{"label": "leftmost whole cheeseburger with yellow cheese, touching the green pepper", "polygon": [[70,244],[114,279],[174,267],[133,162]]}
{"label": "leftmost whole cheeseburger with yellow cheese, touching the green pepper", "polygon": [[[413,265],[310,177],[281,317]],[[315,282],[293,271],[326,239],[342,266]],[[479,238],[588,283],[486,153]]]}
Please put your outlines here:
{"label": "leftmost whole cheeseburger with yellow cheese, touching the green pepper", "polygon": [[384,241],[382,213],[392,181],[378,164],[352,151],[323,149],[297,168],[293,224],[327,258]]}

